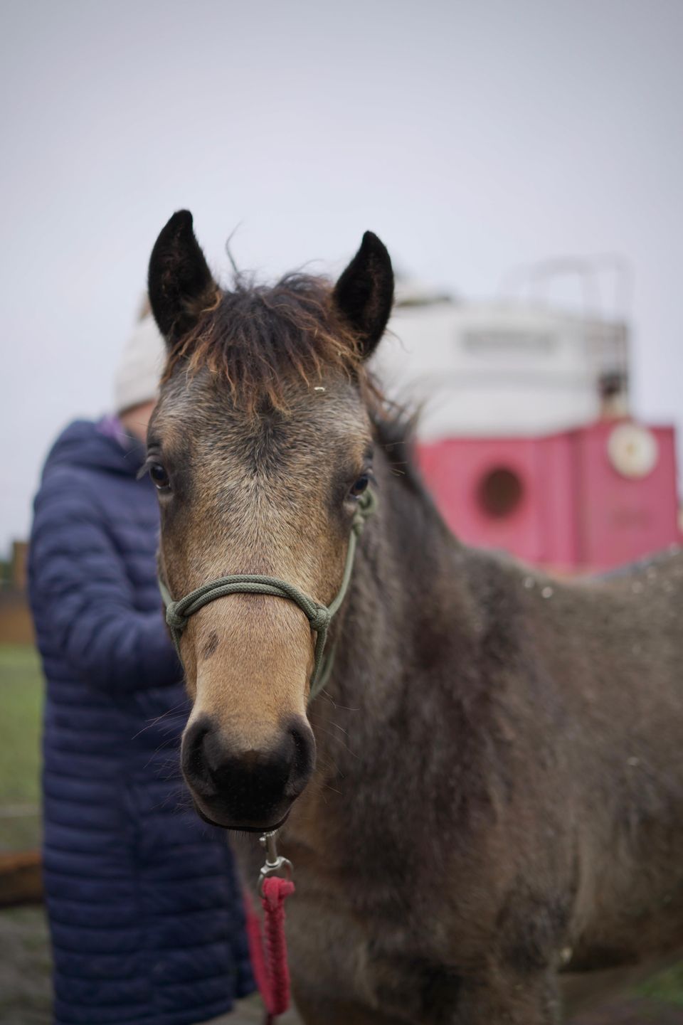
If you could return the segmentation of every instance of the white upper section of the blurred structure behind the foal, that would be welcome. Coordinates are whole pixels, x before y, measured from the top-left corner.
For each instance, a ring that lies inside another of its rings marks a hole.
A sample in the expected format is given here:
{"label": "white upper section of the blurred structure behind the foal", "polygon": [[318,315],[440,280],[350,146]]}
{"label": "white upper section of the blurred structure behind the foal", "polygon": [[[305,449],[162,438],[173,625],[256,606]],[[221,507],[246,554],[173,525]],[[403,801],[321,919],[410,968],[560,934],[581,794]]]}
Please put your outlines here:
{"label": "white upper section of the blurred structure behind the foal", "polygon": [[628,389],[628,330],[519,302],[399,302],[374,358],[387,394],[421,407],[419,436],[537,435],[597,419]]}

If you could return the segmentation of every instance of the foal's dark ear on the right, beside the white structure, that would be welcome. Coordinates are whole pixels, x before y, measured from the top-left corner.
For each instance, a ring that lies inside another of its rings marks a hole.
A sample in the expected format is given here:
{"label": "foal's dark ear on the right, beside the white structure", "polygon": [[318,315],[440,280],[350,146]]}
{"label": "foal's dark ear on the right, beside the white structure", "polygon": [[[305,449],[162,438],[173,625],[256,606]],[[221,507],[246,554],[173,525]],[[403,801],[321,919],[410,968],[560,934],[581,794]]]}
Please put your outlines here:
{"label": "foal's dark ear on the right, beside the white structure", "polygon": [[361,247],[334,286],[339,314],[360,337],[367,359],[385,333],[394,301],[394,271],[387,247],[366,232]]}

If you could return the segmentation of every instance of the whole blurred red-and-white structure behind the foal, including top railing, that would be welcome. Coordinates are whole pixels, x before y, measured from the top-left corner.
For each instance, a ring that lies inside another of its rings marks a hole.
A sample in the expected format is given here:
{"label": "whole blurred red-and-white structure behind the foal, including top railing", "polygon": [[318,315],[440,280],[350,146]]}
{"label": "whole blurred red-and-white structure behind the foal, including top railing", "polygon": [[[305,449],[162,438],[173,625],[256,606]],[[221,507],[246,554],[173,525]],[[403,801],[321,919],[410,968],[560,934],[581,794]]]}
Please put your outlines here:
{"label": "whole blurred red-and-white structure behind the foal, including top railing", "polygon": [[[581,261],[532,277],[567,268],[595,283]],[[424,476],[454,533],[569,572],[681,540],[674,428],[632,418],[627,320],[588,298],[579,315],[404,283],[378,367],[421,409]]]}

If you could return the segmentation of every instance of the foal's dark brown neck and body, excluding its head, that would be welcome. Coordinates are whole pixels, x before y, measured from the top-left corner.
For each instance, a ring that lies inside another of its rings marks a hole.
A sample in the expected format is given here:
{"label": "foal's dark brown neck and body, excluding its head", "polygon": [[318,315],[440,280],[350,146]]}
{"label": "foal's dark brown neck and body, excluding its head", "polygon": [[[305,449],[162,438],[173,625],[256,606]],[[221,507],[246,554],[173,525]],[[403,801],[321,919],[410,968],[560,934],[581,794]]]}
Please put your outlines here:
{"label": "foal's dark brown neck and body, excluding its head", "polygon": [[552,1022],[568,961],[683,945],[683,554],[549,580],[380,473],[281,832],[296,999],[328,1025]]}

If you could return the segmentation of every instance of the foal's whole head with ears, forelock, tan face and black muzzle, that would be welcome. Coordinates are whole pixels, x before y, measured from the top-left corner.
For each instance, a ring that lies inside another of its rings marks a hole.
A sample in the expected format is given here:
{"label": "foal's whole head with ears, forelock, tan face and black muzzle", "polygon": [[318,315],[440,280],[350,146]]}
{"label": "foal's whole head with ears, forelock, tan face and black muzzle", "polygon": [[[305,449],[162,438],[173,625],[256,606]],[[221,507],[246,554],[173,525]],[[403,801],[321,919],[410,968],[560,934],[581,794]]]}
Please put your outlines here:
{"label": "foal's whole head with ears, forelock, tan face and black muzzle", "polygon": [[[228,291],[180,211],[154,247],[149,291],[168,345],[148,466],[170,593],[264,574],[328,605],[371,486],[364,360],[391,312],[387,250],[366,233],[333,287],[293,276]],[[183,768],[198,810],[229,827],[277,825],[315,761],[309,620],[282,598],[231,594],[194,614],[179,644],[194,702]]]}

